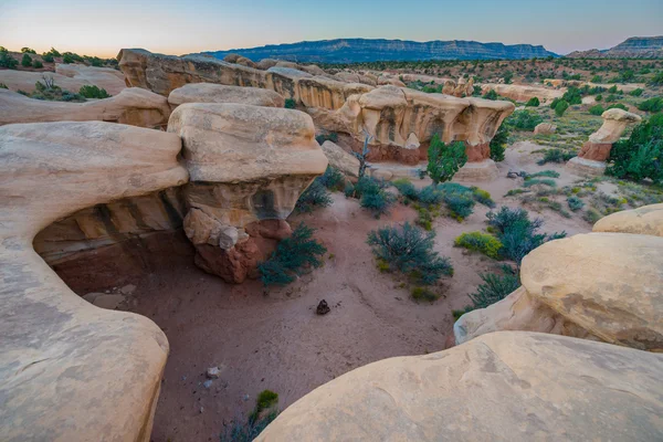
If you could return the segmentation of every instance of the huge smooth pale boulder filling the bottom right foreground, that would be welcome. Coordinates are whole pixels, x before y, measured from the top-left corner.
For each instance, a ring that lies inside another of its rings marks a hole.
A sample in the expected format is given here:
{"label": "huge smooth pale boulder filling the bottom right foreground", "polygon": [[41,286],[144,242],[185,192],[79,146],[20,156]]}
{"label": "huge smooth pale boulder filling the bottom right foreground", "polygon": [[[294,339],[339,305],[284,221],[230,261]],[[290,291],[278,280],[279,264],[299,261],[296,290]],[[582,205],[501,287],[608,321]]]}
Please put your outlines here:
{"label": "huge smooth pale boulder filling the bottom right foreground", "polygon": [[256,441],[655,441],[662,414],[662,355],[502,332],[355,369]]}

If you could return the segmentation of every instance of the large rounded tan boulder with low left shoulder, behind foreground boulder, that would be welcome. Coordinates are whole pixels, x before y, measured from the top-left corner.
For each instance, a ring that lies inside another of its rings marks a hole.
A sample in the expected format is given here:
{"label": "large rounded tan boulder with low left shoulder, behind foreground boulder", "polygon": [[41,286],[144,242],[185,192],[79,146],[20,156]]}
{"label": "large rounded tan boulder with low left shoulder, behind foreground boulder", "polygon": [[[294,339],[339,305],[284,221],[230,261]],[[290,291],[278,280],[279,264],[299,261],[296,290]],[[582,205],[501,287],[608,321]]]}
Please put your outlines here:
{"label": "large rounded tan boulder with low left shoulder, behind foreground boulder", "polygon": [[520,282],[503,301],[463,315],[454,325],[456,344],[496,330],[534,330],[663,351],[661,236],[589,233],[550,241],[525,256]]}

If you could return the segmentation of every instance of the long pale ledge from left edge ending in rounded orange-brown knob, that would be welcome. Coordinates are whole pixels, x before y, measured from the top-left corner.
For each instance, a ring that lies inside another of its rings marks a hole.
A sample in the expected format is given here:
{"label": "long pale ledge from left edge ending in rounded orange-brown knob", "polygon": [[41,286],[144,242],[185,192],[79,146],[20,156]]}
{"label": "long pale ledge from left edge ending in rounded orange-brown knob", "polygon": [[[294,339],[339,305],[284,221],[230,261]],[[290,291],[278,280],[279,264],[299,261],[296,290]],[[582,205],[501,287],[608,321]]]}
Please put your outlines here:
{"label": "long pale ledge from left edge ending in rounded orange-brown knob", "polygon": [[109,122],[166,128],[168,101],[139,87],[125,88],[110,98],[86,103],[46,102],[0,90],[0,126],[12,123]]}

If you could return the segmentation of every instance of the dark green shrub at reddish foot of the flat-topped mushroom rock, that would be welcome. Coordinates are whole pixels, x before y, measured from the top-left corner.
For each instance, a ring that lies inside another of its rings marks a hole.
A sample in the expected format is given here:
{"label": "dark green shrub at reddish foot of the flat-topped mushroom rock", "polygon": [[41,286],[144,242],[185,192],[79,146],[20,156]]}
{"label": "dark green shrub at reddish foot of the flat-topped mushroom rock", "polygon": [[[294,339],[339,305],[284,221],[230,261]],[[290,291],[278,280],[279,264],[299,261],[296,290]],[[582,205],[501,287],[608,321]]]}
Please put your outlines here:
{"label": "dark green shrub at reddish foot of the flat-topped mushroom rock", "polygon": [[324,255],[327,249],[312,238],[313,232],[312,228],[301,223],[290,238],[278,242],[266,261],[257,265],[265,286],[290,284],[304,270],[323,264],[318,256]]}

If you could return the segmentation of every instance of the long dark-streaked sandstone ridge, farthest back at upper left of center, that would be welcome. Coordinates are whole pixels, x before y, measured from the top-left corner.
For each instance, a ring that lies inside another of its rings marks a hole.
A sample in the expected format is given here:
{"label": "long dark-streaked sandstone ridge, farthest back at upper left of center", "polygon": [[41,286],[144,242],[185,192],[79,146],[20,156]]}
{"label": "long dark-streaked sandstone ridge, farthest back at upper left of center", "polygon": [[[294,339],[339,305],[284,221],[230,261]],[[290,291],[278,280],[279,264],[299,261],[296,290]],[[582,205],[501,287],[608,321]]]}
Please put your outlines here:
{"label": "long dark-streaked sandstone ridge, farthest back at upper left of center", "polygon": [[160,95],[168,95],[188,83],[217,83],[272,90],[304,107],[336,109],[348,96],[372,88],[313,76],[297,70],[301,66],[294,64],[293,67],[284,62],[262,71],[200,55],[179,57],[139,49],[123,49],[117,57],[127,85],[151,90]]}

